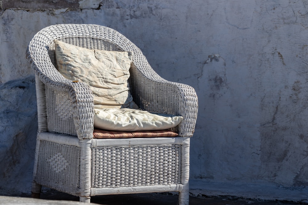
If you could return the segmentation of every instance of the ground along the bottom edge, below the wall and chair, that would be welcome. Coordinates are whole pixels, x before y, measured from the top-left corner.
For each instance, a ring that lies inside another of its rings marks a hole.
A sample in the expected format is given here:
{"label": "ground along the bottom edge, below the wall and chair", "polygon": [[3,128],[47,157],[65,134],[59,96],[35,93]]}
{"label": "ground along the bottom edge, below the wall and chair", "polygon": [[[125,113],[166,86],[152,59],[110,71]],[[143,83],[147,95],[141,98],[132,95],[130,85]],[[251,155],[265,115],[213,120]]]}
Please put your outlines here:
{"label": "ground along the bottom edge, below the wall and chair", "polygon": [[[125,194],[125,195],[106,195],[91,197],[91,204],[103,205],[176,205],[177,195],[172,193],[146,193],[146,194]],[[17,196],[0,196],[1,205],[34,205],[34,204],[59,204],[59,205],[77,205],[79,197],[58,191],[46,191],[41,194],[40,199],[32,199],[30,195]],[[274,201],[274,200],[253,200],[242,199],[232,196],[190,196],[190,205],[295,205],[307,203],[295,203],[288,201]]]}

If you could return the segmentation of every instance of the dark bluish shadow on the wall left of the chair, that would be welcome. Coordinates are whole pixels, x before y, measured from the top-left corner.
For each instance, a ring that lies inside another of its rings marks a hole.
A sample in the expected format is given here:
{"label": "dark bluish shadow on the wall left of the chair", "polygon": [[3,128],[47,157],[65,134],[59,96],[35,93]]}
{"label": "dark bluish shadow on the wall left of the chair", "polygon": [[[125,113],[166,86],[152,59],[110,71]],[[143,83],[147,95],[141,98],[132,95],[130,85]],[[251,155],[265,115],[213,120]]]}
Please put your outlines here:
{"label": "dark bluish shadow on the wall left of the chair", "polygon": [[0,195],[31,191],[37,107],[34,77],[0,85]]}

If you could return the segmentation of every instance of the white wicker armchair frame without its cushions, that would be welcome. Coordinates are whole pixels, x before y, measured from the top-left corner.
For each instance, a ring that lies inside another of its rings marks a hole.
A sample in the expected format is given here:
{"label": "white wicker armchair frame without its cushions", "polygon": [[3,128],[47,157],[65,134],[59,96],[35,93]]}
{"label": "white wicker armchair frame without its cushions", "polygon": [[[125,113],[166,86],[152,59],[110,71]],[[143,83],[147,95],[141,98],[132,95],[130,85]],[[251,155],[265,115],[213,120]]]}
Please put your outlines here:
{"label": "white wicker armchair frame without its cushions", "polygon": [[[136,104],[149,112],[184,119],[177,137],[94,139],[89,86],[65,79],[56,69],[54,39],[89,49],[133,51],[129,85]],[[50,187],[90,202],[95,195],[179,192],[189,198],[189,140],[197,118],[197,96],[188,85],[157,75],[126,37],[97,25],[63,24],[39,31],[27,49],[35,71],[38,135],[32,194]]]}

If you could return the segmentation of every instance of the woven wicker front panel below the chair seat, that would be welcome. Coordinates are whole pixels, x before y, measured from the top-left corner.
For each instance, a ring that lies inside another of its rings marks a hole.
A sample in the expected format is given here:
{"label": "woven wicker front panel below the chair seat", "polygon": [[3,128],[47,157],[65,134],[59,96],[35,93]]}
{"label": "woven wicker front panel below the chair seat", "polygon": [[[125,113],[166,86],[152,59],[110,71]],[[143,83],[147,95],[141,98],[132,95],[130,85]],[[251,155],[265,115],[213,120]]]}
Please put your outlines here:
{"label": "woven wicker front panel below the chair seat", "polygon": [[180,183],[180,151],[180,145],[92,148],[92,187]]}

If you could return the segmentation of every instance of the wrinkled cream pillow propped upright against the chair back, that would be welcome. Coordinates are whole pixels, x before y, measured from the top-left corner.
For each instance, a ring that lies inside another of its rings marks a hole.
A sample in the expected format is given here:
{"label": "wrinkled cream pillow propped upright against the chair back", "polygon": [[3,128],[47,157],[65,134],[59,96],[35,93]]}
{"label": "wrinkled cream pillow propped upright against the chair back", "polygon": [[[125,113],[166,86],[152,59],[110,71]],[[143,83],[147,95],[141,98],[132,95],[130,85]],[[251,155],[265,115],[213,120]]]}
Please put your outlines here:
{"label": "wrinkled cream pillow propped upright against the chair back", "polygon": [[86,49],[55,40],[58,71],[91,87],[94,108],[134,108],[129,93],[132,52]]}

